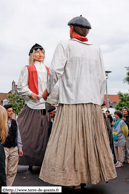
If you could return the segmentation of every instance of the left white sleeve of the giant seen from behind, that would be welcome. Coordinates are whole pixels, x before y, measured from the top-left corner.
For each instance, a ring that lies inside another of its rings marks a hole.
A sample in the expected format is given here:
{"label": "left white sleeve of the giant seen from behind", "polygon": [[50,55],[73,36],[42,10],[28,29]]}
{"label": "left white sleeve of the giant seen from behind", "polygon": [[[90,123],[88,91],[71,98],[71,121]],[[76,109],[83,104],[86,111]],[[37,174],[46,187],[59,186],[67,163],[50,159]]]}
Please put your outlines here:
{"label": "left white sleeve of the giant seen from behind", "polygon": [[60,42],[56,47],[51,62],[51,66],[49,69],[49,77],[47,84],[48,93],[51,93],[52,88],[55,86],[59,77],[63,74],[66,61],[67,61],[66,48],[65,45],[63,45],[62,42]]}

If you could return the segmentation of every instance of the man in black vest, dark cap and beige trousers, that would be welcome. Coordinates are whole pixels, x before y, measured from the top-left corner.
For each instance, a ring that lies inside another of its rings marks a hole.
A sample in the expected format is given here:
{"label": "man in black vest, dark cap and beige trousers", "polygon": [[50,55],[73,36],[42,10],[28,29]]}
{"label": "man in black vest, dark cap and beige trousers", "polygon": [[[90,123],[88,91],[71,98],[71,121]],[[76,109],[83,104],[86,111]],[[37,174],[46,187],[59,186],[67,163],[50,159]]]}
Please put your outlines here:
{"label": "man in black vest, dark cap and beige trousers", "polygon": [[[19,161],[19,156],[23,155],[22,142],[19,132],[18,123],[15,119],[12,119],[13,109],[12,105],[4,105],[7,111],[7,124],[8,124],[8,136],[6,138],[4,146],[5,151],[5,167],[6,167],[6,181],[7,186],[12,186],[15,176],[17,174],[17,165]],[[19,152],[19,155],[18,155]]]}

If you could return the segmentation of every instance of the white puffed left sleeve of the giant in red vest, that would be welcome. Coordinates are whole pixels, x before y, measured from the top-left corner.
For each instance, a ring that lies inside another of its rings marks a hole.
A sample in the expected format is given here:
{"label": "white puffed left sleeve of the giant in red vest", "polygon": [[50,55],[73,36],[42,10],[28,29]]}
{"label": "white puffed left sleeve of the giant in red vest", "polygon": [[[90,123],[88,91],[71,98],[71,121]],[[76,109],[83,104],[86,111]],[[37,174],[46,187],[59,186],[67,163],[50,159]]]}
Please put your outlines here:
{"label": "white puffed left sleeve of the giant in red vest", "polygon": [[17,91],[24,98],[24,100],[28,100],[31,97],[32,91],[28,86],[28,69],[26,66],[21,71],[17,84]]}

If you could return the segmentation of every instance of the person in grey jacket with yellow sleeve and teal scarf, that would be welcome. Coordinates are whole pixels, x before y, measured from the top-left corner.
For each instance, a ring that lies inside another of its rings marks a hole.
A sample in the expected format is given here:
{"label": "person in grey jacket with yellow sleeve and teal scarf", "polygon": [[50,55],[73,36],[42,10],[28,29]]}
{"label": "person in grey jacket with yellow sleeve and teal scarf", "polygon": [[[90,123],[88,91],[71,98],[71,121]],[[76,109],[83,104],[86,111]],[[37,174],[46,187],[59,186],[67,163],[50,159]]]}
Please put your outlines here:
{"label": "person in grey jacket with yellow sleeve and teal scarf", "polygon": [[114,151],[116,155],[116,168],[123,167],[124,161],[124,146],[126,142],[126,137],[128,136],[128,127],[124,120],[122,119],[122,112],[117,110],[114,113],[116,121],[113,124],[113,143]]}

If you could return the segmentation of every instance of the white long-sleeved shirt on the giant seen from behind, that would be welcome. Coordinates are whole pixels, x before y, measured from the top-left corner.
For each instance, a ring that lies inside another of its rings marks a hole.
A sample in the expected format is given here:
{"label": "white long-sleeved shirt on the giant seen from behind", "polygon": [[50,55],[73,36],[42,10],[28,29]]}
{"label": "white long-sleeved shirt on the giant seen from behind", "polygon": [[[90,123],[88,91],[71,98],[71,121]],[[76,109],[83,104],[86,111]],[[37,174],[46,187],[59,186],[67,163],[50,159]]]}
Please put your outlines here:
{"label": "white long-sleeved shirt on the giant seen from behind", "polygon": [[106,77],[101,51],[77,39],[61,41],[54,53],[47,91],[59,80],[59,103],[102,105]]}

